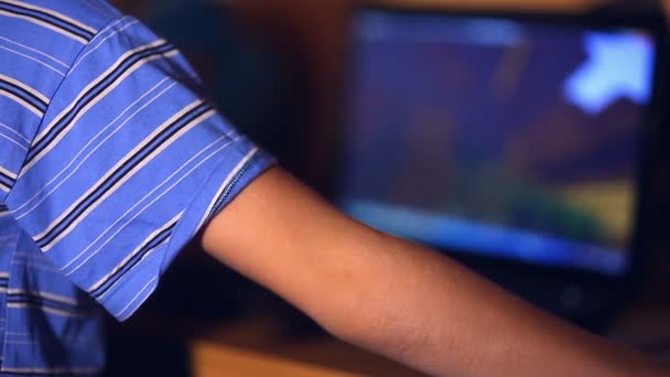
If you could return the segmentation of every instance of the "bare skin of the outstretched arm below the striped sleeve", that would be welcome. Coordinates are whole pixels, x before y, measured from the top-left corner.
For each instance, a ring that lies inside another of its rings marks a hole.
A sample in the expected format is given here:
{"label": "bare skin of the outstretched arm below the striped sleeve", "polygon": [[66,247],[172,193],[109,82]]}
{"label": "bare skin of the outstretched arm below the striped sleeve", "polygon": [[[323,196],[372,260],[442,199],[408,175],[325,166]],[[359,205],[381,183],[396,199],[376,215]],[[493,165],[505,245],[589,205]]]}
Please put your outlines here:
{"label": "bare skin of the outstretched arm below the striped sleeve", "polygon": [[204,229],[204,249],[333,335],[439,376],[668,376],[425,247],[341,214],[280,168]]}

